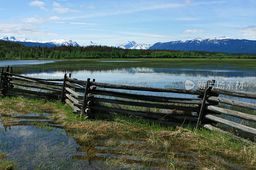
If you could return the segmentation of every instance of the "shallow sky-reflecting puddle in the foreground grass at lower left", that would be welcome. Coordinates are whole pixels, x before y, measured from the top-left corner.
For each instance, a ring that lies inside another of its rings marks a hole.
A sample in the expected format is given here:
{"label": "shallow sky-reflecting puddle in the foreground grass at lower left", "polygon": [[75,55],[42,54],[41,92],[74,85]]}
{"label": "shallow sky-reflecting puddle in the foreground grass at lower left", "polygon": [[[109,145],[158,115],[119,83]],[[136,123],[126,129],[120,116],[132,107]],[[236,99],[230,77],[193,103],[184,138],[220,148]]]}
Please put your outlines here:
{"label": "shallow sky-reflecting puddle in the foreground grass at lower left", "polygon": [[[88,149],[88,146],[71,135],[79,133],[79,130],[66,129],[63,125],[54,124],[41,115],[15,115],[9,116],[9,118],[19,119],[19,121],[5,120],[0,123],[0,153],[8,155],[6,160],[14,161],[19,169],[140,169],[142,167],[164,169],[141,165],[140,162],[145,160],[195,166],[193,163],[175,162],[169,159],[149,159],[118,154],[120,150],[127,151],[125,148],[103,147],[95,144],[89,146]],[[40,122],[45,123],[44,126],[40,125]],[[138,143],[138,141],[136,142]],[[102,143],[108,143],[108,141],[102,141]],[[126,141],[126,143],[131,144],[132,141]],[[93,151],[93,153],[89,151]],[[110,154],[106,151],[116,152]],[[127,164],[111,166],[106,162],[108,159],[124,159]]]}

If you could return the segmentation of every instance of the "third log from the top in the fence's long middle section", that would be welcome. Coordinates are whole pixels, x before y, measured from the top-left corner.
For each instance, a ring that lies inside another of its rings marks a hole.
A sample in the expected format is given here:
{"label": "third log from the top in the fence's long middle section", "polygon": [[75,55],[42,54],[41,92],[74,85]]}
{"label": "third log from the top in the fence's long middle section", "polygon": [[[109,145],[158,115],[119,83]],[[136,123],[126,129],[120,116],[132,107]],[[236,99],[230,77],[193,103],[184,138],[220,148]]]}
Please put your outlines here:
{"label": "third log from the top in the fence's long middle section", "polygon": [[143,102],[136,102],[136,101],[104,99],[104,98],[97,98],[97,97],[94,97],[90,100],[100,101],[100,102],[105,102],[105,103],[115,103],[115,104],[120,104],[120,105],[128,105],[128,106],[151,107],[151,108],[161,108],[161,109],[170,109],[170,110],[175,109],[175,110],[188,111],[188,112],[199,112],[199,109],[197,107],[189,107],[189,106],[143,103]]}

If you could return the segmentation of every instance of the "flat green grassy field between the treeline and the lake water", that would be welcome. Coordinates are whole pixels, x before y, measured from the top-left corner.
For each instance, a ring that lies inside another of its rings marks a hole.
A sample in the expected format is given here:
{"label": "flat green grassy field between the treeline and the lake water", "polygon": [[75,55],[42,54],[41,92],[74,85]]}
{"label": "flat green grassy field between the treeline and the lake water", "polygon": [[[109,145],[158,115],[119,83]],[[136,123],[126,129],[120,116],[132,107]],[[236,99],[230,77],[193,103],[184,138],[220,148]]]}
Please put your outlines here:
{"label": "flat green grassy field between the treeline and the lake water", "polygon": [[[134,63],[122,62],[97,62],[97,61],[137,61]],[[141,63],[143,62],[143,63]],[[24,73],[25,71],[33,70],[109,70],[130,67],[149,67],[149,68],[183,68],[188,67],[237,67],[238,69],[253,69],[255,68],[255,59],[236,59],[236,58],[223,58],[223,59],[207,59],[207,58],[170,58],[170,59],[157,59],[157,58],[139,58],[139,59],[72,59],[60,60],[56,63],[46,63],[40,65],[14,66],[15,73]]]}

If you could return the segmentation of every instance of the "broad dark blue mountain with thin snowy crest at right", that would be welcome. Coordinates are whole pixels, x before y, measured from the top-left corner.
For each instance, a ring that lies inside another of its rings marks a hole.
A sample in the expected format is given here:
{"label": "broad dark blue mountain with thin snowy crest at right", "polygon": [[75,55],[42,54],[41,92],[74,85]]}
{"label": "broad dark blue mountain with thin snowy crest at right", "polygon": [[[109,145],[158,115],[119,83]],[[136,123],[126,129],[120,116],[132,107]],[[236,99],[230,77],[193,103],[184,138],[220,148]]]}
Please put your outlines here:
{"label": "broad dark blue mountain with thin snowy crest at right", "polygon": [[256,41],[229,37],[196,38],[187,41],[157,42],[149,49],[256,53]]}

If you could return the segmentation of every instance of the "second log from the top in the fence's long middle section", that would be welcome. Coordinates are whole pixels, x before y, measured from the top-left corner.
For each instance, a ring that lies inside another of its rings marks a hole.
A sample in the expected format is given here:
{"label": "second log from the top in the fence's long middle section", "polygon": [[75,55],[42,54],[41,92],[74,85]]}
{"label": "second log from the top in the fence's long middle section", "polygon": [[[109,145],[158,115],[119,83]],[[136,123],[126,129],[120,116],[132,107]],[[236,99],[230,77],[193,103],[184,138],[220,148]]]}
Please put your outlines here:
{"label": "second log from the top in the fence's long middle section", "polygon": [[[202,101],[203,101],[201,99],[160,97],[160,96],[130,94],[130,93],[123,93],[123,92],[112,92],[112,91],[106,91],[106,90],[94,90],[92,91],[92,93],[98,94],[98,95],[104,95],[104,96],[120,97],[125,99],[144,100],[144,101],[163,102],[163,103],[202,104]],[[209,103],[206,102],[206,104],[209,104]]]}

